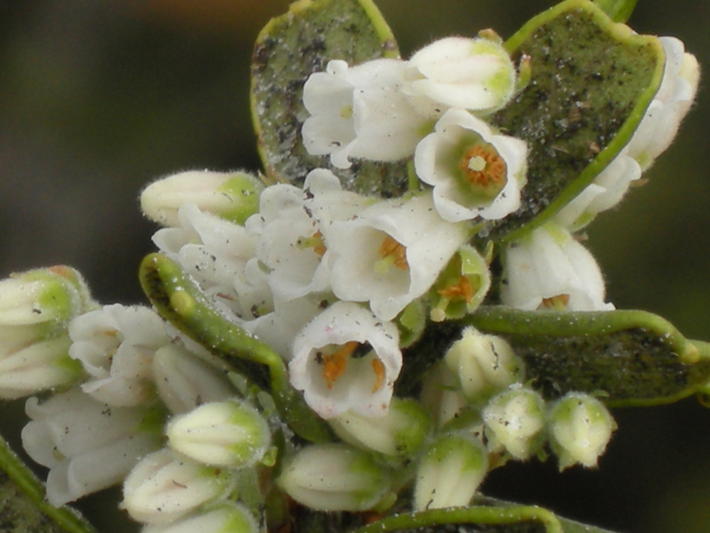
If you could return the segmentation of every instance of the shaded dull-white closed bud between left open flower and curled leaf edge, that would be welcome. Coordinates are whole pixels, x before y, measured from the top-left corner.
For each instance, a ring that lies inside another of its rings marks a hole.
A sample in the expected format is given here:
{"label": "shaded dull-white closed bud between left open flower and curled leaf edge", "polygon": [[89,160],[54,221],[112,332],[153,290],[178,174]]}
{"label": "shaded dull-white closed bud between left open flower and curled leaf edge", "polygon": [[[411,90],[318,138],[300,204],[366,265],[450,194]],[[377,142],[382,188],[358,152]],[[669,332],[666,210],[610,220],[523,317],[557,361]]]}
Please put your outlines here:
{"label": "shaded dull-white closed bud between left open flower and curled leaf edge", "polygon": [[165,345],[155,352],[153,379],[160,399],[173,414],[186,413],[207,402],[219,402],[236,394],[226,376],[175,344]]}

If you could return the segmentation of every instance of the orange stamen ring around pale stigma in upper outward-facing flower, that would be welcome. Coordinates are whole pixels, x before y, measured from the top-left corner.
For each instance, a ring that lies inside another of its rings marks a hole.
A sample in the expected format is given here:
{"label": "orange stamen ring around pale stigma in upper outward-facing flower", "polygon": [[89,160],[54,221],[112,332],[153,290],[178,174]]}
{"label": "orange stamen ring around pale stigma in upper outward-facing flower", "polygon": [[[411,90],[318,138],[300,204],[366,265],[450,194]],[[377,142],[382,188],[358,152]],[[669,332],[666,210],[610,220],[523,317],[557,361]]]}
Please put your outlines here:
{"label": "orange stamen ring around pale stigma in upper outward-facing flower", "polygon": [[489,144],[475,144],[464,152],[459,168],[471,190],[495,198],[508,183],[508,166]]}

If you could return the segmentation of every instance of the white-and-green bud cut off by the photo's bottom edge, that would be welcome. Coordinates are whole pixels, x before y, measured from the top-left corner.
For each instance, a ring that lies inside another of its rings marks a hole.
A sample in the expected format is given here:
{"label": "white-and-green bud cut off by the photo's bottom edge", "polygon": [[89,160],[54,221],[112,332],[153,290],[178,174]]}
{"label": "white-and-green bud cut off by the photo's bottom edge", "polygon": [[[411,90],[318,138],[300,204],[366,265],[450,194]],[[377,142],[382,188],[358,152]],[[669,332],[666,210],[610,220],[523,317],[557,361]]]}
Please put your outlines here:
{"label": "white-and-green bud cut off by the photo's bottom edge", "polygon": [[258,533],[256,519],[239,503],[225,502],[169,525],[148,525],[141,533]]}

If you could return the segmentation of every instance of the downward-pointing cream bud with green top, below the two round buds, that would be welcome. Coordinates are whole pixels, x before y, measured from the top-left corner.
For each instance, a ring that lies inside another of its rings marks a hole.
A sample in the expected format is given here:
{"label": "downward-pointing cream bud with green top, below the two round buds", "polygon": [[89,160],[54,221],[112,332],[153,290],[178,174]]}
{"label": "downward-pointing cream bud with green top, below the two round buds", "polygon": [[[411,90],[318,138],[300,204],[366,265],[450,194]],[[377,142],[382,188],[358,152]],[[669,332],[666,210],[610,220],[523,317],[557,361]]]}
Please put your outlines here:
{"label": "downward-pointing cream bud with green top, below the two round buds", "polygon": [[469,505],[488,471],[488,453],[464,435],[442,436],[430,446],[417,469],[416,510]]}

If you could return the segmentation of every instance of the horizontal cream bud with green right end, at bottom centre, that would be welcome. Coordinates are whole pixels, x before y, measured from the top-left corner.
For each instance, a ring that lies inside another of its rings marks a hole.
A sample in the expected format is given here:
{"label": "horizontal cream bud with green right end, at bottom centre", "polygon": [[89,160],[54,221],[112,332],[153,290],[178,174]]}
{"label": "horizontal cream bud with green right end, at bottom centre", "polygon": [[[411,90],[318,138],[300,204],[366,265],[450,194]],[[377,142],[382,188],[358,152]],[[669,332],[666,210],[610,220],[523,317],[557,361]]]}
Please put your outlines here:
{"label": "horizontal cream bud with green right end, at bottom centre", "polygon": [[296,453],[278,483],[297,502],[322,511],[365,511],[390,492],[388,472],[364,451],[318,444]]}

